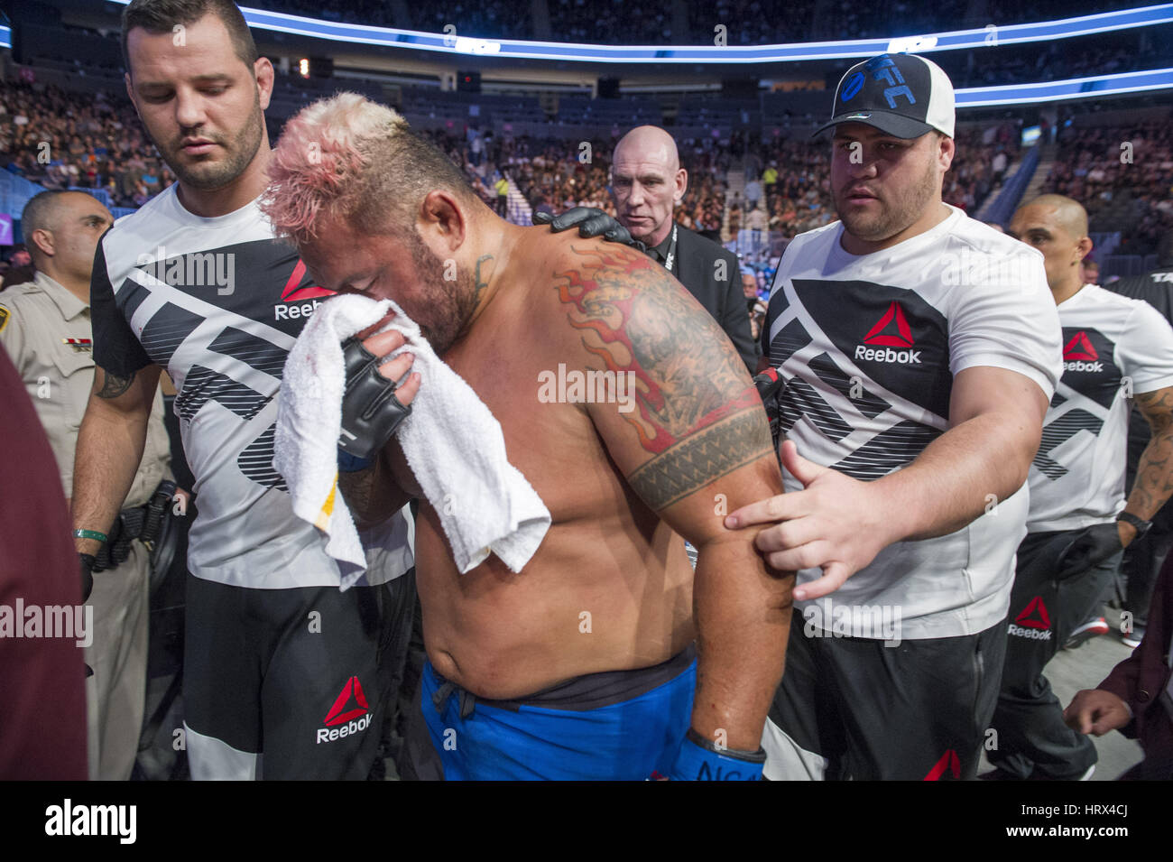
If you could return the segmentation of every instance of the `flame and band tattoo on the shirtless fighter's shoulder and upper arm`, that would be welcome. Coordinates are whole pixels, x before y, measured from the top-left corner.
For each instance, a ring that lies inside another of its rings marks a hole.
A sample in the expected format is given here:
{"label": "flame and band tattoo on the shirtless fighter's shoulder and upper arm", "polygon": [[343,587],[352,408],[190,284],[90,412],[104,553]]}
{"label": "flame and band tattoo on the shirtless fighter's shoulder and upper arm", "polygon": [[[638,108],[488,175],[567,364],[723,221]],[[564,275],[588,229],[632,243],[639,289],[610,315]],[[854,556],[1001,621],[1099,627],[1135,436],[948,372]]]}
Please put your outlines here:
{"label": "flame and band tattoo on the shirtless fighter's shoulder and upper arm", "polygon": [[635,375],[637,409],[621,415],[653,455],[628,476],[644,502],[664,509],[772,456],[757,389],[708,313],[644,254],[574,251],[583,264],[555,273],[558,298],[605,371]]}

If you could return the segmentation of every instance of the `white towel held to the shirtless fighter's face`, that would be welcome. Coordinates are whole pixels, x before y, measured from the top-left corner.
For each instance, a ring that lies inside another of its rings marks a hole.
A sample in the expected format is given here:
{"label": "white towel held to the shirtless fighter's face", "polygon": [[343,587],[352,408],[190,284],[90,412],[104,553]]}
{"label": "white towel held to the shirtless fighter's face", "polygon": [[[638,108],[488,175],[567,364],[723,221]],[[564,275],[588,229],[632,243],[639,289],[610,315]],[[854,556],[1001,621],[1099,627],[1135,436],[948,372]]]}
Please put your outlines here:
{"label": "white towel held to the shirtless fighter's face", "polygon": [[[354,521],[338,493],[338,437],[343,423],[341,342],[395,317],[380,332],[398,330],[415,355],[420,392],[396,432],[407,463],[433,508],[461,573],[490,552],[520,572],[550,527],[550,513],[506,457],[501,425],[460,375],[445,365],[420,328],[389,299],[340,296],[323,303],[285,361],[274,440],[278,471],[298,517],[328,537],[344,585],[366,562]],[[393,355],[394,355],[393,354]]]}

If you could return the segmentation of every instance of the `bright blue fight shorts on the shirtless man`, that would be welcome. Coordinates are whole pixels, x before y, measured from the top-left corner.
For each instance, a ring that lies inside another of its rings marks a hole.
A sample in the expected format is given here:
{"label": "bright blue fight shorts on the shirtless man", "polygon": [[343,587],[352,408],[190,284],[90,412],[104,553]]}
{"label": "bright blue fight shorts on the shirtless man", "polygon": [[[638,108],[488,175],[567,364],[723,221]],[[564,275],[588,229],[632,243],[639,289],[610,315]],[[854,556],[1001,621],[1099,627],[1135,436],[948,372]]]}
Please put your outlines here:
{"label": "bright blue fight shorts on the shirtless man", "polygon": [[643,781],[667,775],[689,729],[696,649],[635,671],[590,673],[487,700],[423,666],[422,707],[448,781]]}

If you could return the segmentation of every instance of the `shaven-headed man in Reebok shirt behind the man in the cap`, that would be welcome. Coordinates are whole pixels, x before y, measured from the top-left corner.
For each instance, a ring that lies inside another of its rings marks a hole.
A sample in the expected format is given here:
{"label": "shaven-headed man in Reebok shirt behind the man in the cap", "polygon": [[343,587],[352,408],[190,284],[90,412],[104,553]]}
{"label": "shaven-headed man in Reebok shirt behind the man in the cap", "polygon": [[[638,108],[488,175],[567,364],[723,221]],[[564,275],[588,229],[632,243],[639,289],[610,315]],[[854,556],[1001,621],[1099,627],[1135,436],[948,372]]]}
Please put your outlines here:
{"label": "shaven-headed man in Reebok shirt behind the man in the cap", "polygon": [[[1096,746],[1064,724],[1043,668],[1086,619],[1124,548],[1148,529],[1173,490],[1173,330],[1160,312],[1084,284],[1087,212],[1043,195],[1010,231],[1043,252],[1063,325],[1063,379],[1030,470],[1026,538],[1018,547],[1002,691],[994,713],[997,768],[983,778],[1086,779]],[[1127,505],[1128,399],[1153,429]]]}

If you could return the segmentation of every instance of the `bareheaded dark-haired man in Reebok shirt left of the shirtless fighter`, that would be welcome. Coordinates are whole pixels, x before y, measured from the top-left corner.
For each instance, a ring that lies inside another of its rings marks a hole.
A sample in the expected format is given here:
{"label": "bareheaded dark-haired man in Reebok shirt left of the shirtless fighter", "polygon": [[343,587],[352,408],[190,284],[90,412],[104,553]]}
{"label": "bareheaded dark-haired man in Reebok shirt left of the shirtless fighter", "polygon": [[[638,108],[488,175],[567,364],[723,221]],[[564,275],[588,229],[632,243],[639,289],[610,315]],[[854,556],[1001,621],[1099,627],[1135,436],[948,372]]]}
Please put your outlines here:
{"label": "bareheaded dark-haired man in Reebok shirt left of the shirtless fighter", "polygon": [[191,775],[365,779],[394,678],[389,644],[413,600],[409,524],[391,518],[364,579],[341,591],[325,538],[293,514],[273,467],[285,357],[330,294],[257,205],[273,69],[231,0],[134,0],[122,39],[127,89],[178,182],[97,247],[74,525],[113,521],[165,367],[198,508],[183,667]]}

